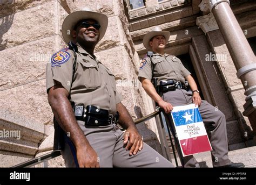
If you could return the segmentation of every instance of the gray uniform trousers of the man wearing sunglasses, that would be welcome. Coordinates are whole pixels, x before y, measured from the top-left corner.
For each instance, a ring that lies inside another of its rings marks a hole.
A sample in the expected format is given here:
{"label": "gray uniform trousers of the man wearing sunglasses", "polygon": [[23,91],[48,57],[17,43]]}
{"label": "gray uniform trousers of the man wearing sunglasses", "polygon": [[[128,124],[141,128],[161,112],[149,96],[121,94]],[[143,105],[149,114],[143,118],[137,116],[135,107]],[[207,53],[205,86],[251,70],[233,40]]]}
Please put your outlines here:
{"label": "gray uniform trousers of the man wearing sunglasses", "polygon": [[[78,121],[78,124],[96,151],[100,167],[174,167],[170,161],[145,143],[142,151],[130,156],[130,151],[126,151],[123,144],[124,132],[115,124],[86,127],[84,122]],[[65,144],[61,153],[66,167],[76,167],[68,144]]]}

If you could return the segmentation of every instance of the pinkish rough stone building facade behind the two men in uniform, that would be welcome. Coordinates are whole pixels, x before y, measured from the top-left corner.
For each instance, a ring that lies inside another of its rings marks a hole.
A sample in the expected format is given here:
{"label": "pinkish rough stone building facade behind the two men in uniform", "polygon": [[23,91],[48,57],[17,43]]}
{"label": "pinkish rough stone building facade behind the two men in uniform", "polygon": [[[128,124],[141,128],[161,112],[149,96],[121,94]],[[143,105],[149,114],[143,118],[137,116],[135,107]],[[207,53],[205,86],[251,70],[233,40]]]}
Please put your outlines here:
{"label": "pinkish rough stone building facade behind the two men in uniform", "polygon": [[[214,17],[201,11],[200,3],[201,0],[1,1],[0,130],[19,132],[14,132],[14,137],[0,138],[0,167],[10,167],[52,150],[53,115],[45,89],[45,66],[52,53],[65,47],[60,32],[64,18],[85,6],[109,17],[109,27],[95,55],[116,76],[117,88],[133,119],[154,111],[137,74],[146,54],[142,39],[157,25],[171,33],[166,53],[183,60],[196,77],[203,98],[224,112],[229,149],[255,145],[253,124],[242,115],[245,90],[235,75],[237,70]],[[256,52],[256,3],[230,3]],[[146,143],[170,159],[165,131],[158,120],[137,126]],[[48,165],[64,166],[61,157]]]}

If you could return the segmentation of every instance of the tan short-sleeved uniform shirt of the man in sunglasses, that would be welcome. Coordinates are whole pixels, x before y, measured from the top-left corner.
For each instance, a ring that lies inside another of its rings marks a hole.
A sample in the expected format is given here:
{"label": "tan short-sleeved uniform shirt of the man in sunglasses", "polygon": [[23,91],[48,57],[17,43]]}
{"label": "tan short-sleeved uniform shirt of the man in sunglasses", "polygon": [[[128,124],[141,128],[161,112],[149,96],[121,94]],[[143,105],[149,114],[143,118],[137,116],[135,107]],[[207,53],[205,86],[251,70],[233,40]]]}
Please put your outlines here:
{"label": "tan short-sleeved uniform shirt of the man in sunglasses", "polygon": [[75,104],[95,105],[116,113],[116,104],[121,102],[122,96],[117,92],[114,75],[79,45],[76,72],[70,89],[74,58],[70,49],[62,49],[52,55],[51,63],[46,66],[46,89],[59,82],[71,93]]}

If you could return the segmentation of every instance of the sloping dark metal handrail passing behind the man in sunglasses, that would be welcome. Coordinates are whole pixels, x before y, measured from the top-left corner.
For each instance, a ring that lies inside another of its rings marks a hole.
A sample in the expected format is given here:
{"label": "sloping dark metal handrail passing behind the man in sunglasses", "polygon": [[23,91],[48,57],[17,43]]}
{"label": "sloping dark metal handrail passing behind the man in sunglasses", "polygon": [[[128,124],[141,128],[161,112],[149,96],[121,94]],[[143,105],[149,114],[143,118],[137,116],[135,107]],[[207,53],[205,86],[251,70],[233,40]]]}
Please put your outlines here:
{"label": "sloping dark metal handrail passing behind the man in sunglasses", "polygon": [[[134,120],[134,124],[139,124],[139,123],[145,122],[146,120],[149,120],[153,117],[156,117],[157,115],[159,115],[160,112],[161,112],[161,110],[157,109],[156,111],[150,113],[147,116],[144,116],[142,118]],[[52,152],[44,154],[42,156],[38,156],[37,158],[30,159],[28,161],[19,163],[18,165],[12,166],[12,168],[25,168],[25,167],[35,166],[35,165],[37,165],[41,162],[48,161],[50,159],[56,158],[59,155],[61,155],[59,150],[58,151],[52,151]]]}

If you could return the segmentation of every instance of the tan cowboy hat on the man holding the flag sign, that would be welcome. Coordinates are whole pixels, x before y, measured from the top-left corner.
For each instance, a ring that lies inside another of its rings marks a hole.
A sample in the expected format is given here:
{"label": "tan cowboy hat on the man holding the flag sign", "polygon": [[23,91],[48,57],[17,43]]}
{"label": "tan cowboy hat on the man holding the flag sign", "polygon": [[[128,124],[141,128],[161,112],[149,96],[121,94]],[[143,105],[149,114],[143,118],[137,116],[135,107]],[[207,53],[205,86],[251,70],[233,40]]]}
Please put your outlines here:
{"label": "tan cowboy hat on the man holding the flag sign", "polygon": [[169,40],[169,37],[170,37],[170,32],[162,31],[160,29],[160,27],[158,27],[158,26],[154,27],[154,29],[151,32],[145,34],[145,36],[143,38],[143,45],[144,45],[145,48],[147,48],[149,50],[152,49],[151,46],[149,45],[149,41],[150,41],[150,39],[152,39],[156,35],[164,35],[165,41],[167,43],[168,40]]}

